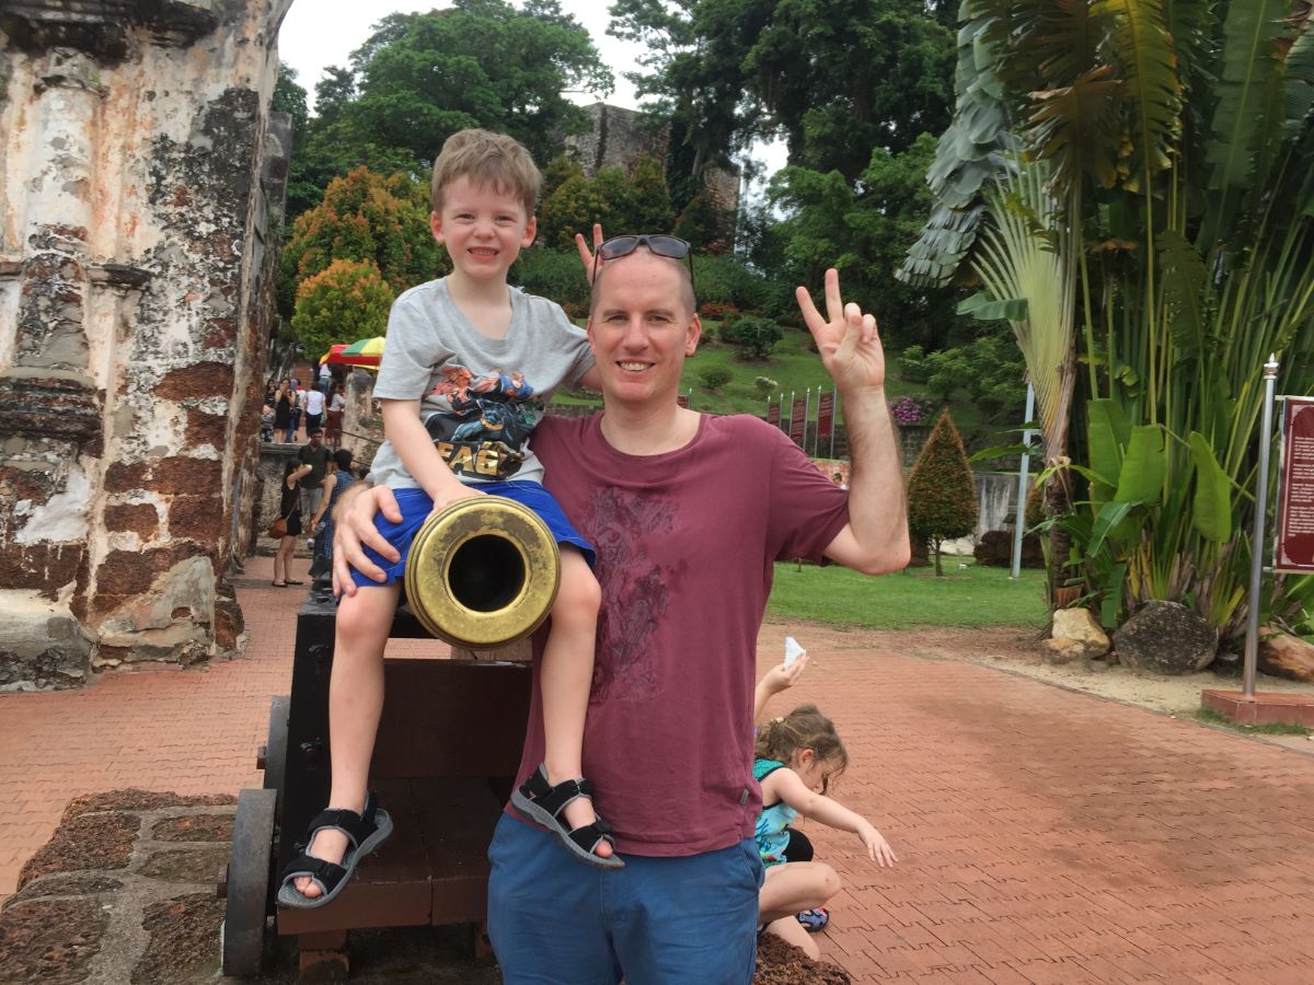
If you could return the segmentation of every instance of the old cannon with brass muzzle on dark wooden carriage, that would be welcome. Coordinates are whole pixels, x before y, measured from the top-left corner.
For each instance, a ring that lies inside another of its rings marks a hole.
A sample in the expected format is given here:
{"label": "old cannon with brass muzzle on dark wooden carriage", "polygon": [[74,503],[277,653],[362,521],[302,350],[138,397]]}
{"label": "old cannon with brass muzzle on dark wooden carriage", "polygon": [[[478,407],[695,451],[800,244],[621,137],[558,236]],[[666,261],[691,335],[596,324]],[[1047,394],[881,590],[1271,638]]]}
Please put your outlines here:
{"label": "old cannon with brass muzzle on dark wooden carriage", "polygon": [[219,875],[226,974],[259,974],[273,935],[296,935],[302,971],[331,963],[346,972],[347,932],[364,927],[469,923],[480,950],[486,848],[520,763],[530,707],[530,666],[507,657],[547,617],[558,582],[556,541],[511,500],[460,500],[417,535],[407,604],[390,637],[445,640],[452,657],[385,657],[371,787],[396,830],[339,897],[298,910],[277,905],[276,876],[327,804],[331,767],[336,602],[327,582],[311,586],[297,612],[290,692],[272,700],[256,754],[264,784],[238,797]]}

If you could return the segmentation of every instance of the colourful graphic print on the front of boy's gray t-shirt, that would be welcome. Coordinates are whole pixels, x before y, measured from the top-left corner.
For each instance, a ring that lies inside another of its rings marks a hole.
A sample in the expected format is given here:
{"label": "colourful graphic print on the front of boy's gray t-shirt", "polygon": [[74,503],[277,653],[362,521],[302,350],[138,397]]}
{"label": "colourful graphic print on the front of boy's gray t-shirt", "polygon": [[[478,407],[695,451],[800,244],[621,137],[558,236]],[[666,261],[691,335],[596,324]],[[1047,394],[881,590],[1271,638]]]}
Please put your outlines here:
{"label": "colourful graphic print on the front of boy's gray t-shirt", "polygon": [[428,395],[439,410],[424,416],[424,429],[443,461],[457,475],[512,478],[524,461],[524,440],[543,415],[524,373],[476,374],[457,364],[440,372],[444,378]]}

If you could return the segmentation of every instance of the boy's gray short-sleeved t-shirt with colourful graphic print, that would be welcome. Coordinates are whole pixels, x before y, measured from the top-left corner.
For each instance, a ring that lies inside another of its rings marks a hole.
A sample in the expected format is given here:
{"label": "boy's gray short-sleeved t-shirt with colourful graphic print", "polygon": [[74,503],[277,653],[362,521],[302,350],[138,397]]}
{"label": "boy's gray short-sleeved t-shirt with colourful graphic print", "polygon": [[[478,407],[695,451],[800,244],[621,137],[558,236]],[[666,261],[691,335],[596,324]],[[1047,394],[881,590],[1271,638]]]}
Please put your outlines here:
{"label": "boy's gray short-sleeved t-shirt with colourful graphic print", "polygon": [[[543,482],[530,432],[558,386],[593,366],[589,336],[556,302],[511,292],[503,339],[480,332],[447,293],[447,281],[411,288],[393,302],[374,397],[420,401],[420,419],[443,461],[468,485]],[[393,489],[418,482],[384,441],[371,478]]]}

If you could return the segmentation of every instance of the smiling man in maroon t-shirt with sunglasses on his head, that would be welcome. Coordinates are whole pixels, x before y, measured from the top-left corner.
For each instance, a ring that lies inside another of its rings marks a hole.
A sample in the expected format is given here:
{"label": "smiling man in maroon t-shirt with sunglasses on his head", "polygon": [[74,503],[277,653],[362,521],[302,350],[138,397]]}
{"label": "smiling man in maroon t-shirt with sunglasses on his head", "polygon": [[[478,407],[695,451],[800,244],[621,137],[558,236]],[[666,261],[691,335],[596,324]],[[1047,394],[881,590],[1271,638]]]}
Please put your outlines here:
{"label": "smiling man in maroon t-shirt with sunglasses on his head", "polygon": [[[798,292],[844,398],[846,496],[763,422],[678,406],[702,324],[691,268],[671,239],[599,246],[589,339],[604,412],[547,418],[533,439],[545,485],[598,550],[603,602],[583,766],[625,868],[579,871],[545,831],[502,817],[489,848],[489,932],[511,984],[752,980],[762,879],[753,690],[771,562],[825,556],[869,574],[908,562],[872,317],[842,305],[834,271],[825,317]],[[377,489],[343,510],[334,580],[346,591],[355,590],[348,563],[377,577],[360,538],[386,556],[376,504],[393,510]],[[520,780],[541,753],[535,688]]]}

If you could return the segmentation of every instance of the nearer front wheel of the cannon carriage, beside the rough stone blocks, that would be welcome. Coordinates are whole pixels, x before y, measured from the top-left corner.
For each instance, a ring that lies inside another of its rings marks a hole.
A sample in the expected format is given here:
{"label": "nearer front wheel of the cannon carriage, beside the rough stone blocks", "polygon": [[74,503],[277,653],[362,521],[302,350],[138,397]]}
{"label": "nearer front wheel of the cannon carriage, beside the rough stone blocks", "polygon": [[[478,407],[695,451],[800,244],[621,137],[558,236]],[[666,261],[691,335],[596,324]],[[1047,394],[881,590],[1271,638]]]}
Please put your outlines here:
{"label": "nearer front wheel of the cannon carriage, beside the rough stone blocks", "polygon": [[238,795],[233,856],[219,885],[221,896],[227,898],[219,929],[225,974],[254,977],[264,961],[276,800],[277,792],[269,789]]}

